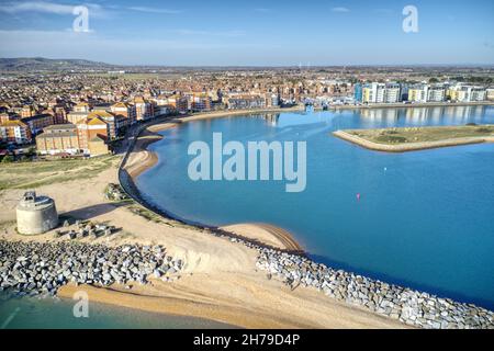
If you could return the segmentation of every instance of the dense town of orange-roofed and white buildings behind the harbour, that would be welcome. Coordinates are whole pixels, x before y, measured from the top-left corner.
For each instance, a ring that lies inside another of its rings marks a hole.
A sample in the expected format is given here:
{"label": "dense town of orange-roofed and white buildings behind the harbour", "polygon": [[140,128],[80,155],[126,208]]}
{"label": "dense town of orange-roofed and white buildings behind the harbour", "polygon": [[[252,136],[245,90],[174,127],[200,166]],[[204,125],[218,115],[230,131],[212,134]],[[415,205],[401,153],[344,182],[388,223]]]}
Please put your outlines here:
{"label": "dense town of orange-roofed and white buildings behind the harbour", "polygon": [[[454,75],[448,69],[448,75],[436,78],[436,71],[433,75],[425,69],[420,75],[417,70],[184,69],[149,75],[149,78],[143,75],[142,79],[127,79],[127,72],[111,77],[89,72],[90,79],[70,72],[20,73],[0,77],[0,137],[10,144],[29,144],[41,136],[44,140],[40,147],[45,152],[64,149],[69,154],[75,150],[93,154],[91,145],[105,145],[108,150],[108,144],[124,135],[131,125],[176,112],[272,109],[305,102],[327,107],[494,101],[492,79],[489,81],[485,76],[482,78],[485,84],[474,84],[463,82],[465,75],[460,71]],[[457,79],[451,78],[456,76]],[[77,134],[77,145],[74,134]]]}

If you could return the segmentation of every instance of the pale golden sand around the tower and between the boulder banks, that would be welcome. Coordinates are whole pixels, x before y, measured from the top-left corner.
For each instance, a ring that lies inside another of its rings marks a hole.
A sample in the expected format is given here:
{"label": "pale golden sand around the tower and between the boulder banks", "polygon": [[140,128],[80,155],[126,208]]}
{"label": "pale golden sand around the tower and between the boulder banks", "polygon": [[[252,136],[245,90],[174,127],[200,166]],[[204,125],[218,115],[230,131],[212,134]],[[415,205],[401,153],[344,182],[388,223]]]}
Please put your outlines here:
{"label": "pale golden sand around the tower and between the boulder banks", "polygon": [[[352,307],[307,287],[292,291],[282,282],[268,280],[256,269],[257,252],[228,239],[173,220],[148,220],[127,206],[103,197],[109,182],[116,181],[116,167],[89,181],[77,180],[41,186],[38,193],[54,197],[58,211],[72,218],[108,223],[121,228],[111,237],[80,239],[83,242],[119,246],[160,244],[186,262],[183,274],[172,283],[135,284],[132,290],[83,286],[90,299],[143,310],[197,316],[245,328],[403,328],[403,324]],[[77,196],[74,191],[77,190]],[[0,195],[5,211],[0,237],[8,240],[55,240],[54,233],[27,237],[15,233],[14,206],[23,190]],[[10,220],[10,222],[7,222]],[[10,223],[10,224],[9,224]],[[81,286],[78,287],[80,290]],[[74,286],[59,291],[71,297]]]}

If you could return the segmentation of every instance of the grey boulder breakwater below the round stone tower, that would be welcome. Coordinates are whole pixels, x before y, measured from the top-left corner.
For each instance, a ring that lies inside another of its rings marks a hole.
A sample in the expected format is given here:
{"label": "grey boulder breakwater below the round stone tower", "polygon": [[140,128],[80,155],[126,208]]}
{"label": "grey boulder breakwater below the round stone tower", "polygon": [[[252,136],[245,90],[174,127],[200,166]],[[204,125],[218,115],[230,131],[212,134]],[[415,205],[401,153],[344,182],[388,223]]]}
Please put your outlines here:
{"label": "grey boulder breakwater below the round stone tower", "polygon": [[72,241],[0,240],[0,291],[21,296],[53,296],[70,282],[97,286],[147,284],[151,274],[171,281],[182,268],[183,261],[167,256],[162,246],[112,248]]}

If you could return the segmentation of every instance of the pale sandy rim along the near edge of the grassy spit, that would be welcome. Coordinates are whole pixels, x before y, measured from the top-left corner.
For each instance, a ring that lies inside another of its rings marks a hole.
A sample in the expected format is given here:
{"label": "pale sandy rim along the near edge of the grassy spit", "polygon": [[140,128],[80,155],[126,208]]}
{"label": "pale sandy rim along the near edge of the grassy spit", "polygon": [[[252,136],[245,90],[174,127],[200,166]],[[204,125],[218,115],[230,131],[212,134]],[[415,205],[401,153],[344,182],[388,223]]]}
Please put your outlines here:
{"label": "pale sandy rim along the near edge of the grassy spit", "polygon": [[444,140],[438,140],[438,141],[409,143],[406,145],[405,144],[389,145],[389,144],[379,144],[379,143],[370,141],[370,140],[367,140],[357,135],[351,135],[345,131],[333,132],[333,135],[343,140],[361,146],[366,149],[374,150],[374,151],[384,151],[384,152],[409,152],[409,151],[436,149],[436,148],[461,146],[461,145],[494,143],[494,137],[479,136],[479,137],[462,137],[462,138],[453,138],[453,139],[444,139]]}

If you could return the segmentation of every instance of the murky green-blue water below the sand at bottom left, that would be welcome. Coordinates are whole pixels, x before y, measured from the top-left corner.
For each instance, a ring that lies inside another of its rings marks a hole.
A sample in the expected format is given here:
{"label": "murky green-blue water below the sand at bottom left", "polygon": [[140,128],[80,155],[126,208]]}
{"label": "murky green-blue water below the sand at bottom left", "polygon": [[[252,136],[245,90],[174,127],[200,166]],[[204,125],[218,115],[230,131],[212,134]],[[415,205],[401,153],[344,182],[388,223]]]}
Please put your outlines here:
{"label": "murky green-blue water below the sand at bottom left", "polygon": [[207,329],[231,328],[211,320],[89,304],[89,317],[76,318],[70,299],[9,297],[0,294],[0,329]]}

